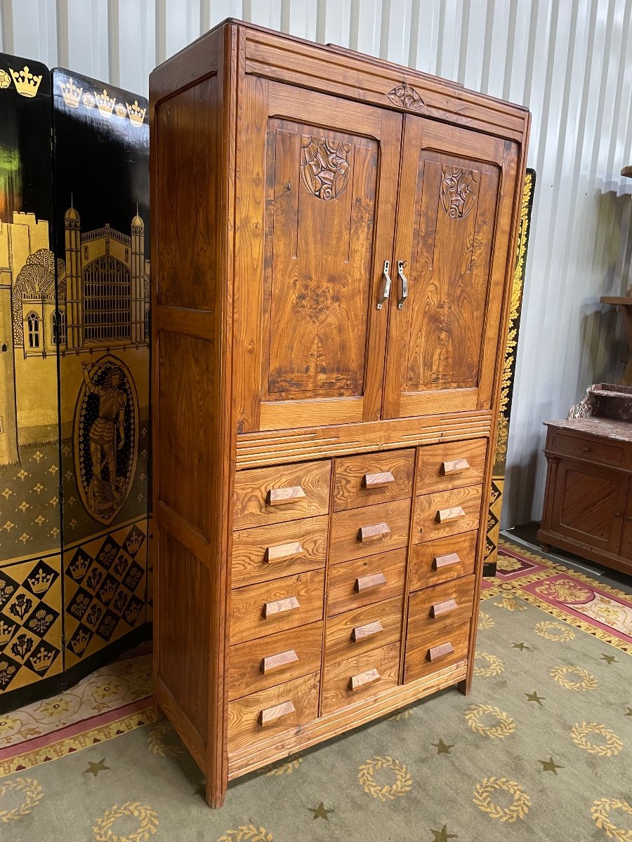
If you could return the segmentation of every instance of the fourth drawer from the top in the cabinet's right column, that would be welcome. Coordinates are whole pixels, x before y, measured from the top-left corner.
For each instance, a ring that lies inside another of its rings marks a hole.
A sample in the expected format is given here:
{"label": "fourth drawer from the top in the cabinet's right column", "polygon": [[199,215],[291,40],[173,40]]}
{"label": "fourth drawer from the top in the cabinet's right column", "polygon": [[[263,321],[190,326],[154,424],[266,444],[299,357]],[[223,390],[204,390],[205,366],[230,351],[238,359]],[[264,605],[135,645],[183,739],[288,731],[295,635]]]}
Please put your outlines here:
{"label": "fourth drawer from the top in the cabinet's right column", "polygon": [[474,576],[437,584],[410,594],[408,640],[437,634],[437,630],[469,621],[474,606]]}

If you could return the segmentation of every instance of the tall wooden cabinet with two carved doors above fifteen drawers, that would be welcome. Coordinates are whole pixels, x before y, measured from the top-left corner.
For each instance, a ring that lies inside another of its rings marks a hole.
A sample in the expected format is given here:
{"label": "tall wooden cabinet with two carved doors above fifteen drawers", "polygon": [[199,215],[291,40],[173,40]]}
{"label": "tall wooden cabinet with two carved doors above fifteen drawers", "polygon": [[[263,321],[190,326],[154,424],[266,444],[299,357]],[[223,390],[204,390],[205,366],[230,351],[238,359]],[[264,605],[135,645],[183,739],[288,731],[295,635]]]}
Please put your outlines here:
{"label": "tall wooden cabinet with two carved doors above fifteen drawers", "polygon": [[151,88],[156,695],[219,805],[469,690],[529,115],[232,20]]}

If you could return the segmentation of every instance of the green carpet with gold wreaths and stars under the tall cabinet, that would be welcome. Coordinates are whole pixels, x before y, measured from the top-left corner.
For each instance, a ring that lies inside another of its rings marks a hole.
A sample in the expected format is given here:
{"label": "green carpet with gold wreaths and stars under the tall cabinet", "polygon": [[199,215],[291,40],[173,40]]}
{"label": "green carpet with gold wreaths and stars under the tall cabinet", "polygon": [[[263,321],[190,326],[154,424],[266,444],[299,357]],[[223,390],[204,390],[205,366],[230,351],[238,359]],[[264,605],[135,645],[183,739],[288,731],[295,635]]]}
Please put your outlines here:
{"label": "green carpet with gold wreaths and stars under the tall cabinet", "polygon": [[517,546],[504,563],[468,697],[444,690],[235,781],[216,811],[166,722],[84,740],[0,777],[0,839],[632,840],[629,597]]}

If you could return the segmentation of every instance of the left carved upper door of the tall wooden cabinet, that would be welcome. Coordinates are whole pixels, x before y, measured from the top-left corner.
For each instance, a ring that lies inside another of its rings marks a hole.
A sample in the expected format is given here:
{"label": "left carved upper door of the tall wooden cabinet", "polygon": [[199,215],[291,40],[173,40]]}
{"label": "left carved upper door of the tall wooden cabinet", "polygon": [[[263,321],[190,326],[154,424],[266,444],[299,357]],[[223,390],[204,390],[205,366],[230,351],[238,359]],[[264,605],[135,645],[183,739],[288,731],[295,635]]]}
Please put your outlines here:
{"label": "left carved upper door of the tall wooden cabinet", "polygon": [[245,80],[238,145],[238,432],[379,418],[402,117]]}

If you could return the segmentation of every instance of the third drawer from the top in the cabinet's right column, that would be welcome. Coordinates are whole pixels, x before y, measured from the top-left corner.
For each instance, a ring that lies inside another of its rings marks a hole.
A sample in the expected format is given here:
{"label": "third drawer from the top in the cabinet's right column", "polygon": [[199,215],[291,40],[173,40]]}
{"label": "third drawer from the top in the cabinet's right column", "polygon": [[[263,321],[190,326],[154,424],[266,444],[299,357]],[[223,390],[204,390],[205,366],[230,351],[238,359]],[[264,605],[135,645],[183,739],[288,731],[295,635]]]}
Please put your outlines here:
{"label": "third drawer from the top in the cabinet's right column", "polygon": [[429,588],[474,573],[478,532],[462,532],[415,544],[410,551],[409,590]]}

